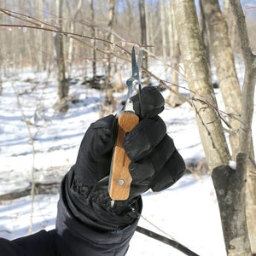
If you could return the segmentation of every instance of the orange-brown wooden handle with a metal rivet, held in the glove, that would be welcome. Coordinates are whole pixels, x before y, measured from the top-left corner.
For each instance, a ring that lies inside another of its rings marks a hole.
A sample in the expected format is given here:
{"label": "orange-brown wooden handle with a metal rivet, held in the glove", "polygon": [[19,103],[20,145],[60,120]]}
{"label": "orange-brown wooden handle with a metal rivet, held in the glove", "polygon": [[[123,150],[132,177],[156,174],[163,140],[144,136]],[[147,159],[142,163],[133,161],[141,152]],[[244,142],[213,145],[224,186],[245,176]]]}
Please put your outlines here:
{"label": "orange-brown wooden handle with a metal rivet, held in the glove", "polygon": [[109,196],[113,200],[126,200],[130,195],[131,174],[128,158],[123,148],[125,132],[131,131],[139,122],[135,113],[122,113],[119,116],[119,130],[113,151],[111,177],[109,181]]}

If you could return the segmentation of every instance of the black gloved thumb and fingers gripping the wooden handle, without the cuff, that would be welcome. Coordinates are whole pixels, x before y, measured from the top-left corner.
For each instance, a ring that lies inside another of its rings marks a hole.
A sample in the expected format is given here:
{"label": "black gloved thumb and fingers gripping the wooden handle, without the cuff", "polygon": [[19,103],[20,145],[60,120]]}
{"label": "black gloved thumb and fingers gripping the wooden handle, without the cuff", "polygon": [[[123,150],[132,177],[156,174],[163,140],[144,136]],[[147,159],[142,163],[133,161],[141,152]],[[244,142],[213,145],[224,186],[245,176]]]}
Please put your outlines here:
{"label": "black gloved thumb and fingers gripping the wooden handle, without the cuff", "polygon": [[[138,95],[131,98],[139,115]],[[131,159],[132,182],[128,201],[148,189],[160,191],[170,187],[183,175],[185,165],[166,135],[166,125],[158,116],[164,109],[164,98],[154,87],[142,90],[142,112],[139,124],[125,134],[124,148]],[[116,138],[117,119],[109,115],[97,120],[86,131],[74,166],[75,177],[91,189],[108,189],[108,175]]]}

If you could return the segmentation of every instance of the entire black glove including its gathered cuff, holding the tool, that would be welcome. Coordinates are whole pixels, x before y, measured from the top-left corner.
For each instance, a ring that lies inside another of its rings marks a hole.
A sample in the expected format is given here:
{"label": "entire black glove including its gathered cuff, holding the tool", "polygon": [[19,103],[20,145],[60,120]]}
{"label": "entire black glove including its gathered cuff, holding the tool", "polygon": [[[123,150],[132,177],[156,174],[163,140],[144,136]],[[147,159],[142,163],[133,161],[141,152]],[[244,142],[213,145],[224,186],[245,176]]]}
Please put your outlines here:
{"label": "entire black glove including its gathered cuff, holding the tool", "polygon": [[[76,193],[83,195],[79,200],[78,195],[70,195],[76,208],[83,208],[81,204],[85,204],[86,207],[82,209],[85,215],[95,218],[99,223],[107,224],[112,221],[111,229],[117,228],[118,224],[129,224],[132,219],[137,218],[134,213],[139,212],[142,207],[140,203],[138,205],[138,195],[148,189],[160,191],[168,188],[182,177],[185,170],[183,159],[177,153],[172,138],[166,135],[164,121],[158,116],[165,103],[160,92],[154,87],[143,88],[141,112],[138,96],[133,96],[131,100],[140,122],[125,134],[124,140],[125,151],[131,159],[129,199],[116,201],[115,207],[110,207],[108,176],[117,134],[117,119],[113,115],[90,125],[73,166],[71,186]],[[88,206],[94,208],[94,212],[89,211]],[[101,209],[107,211],[106,214]],[[120,218],[108,218],[108,212],[117,213]],[[98,218],[102,218],[101,221]]]}

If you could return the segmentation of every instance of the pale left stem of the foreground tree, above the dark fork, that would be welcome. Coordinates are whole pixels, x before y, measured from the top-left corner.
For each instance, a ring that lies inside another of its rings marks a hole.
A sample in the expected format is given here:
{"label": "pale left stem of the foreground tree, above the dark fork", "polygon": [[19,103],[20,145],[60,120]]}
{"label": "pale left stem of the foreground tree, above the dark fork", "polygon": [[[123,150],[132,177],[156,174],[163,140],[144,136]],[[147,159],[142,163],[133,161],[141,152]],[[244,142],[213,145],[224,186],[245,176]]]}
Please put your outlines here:
{"label": "pale left stem of the foreground tree, above the dark fork", "polygon": [[194,1],[173,1],[175,20],[183,64],[189,82],[189,89],[194,97],[194,107],[201,142],[207,158],[207,164],[212,170],[217,166],[228,165],[230,153],[225,141],[223,127],[218,119],[218,113],[211,104],[217,108],[214,96],[211,73],[207,63],[205,51],[202,46],[201,32],[196,16]]}

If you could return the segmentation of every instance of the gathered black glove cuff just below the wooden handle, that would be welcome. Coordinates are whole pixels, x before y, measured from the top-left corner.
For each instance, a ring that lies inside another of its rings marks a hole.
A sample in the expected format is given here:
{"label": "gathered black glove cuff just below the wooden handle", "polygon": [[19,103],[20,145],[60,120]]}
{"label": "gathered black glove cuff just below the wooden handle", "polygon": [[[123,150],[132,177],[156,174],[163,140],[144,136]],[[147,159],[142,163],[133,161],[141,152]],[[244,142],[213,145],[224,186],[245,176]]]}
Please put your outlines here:
{"label": "gathered black glove cuff just below the wooden handle", "polygon": [[[84,186],[72,170],[66,177],[67,204],[73,214],[83,223],[100,230],[121,230],[136,221],[142,212],[142,199],[115,203],[111,207],[108,190]],[[90,219],[90,223],[88,222]]]}

